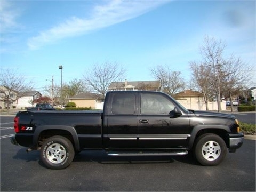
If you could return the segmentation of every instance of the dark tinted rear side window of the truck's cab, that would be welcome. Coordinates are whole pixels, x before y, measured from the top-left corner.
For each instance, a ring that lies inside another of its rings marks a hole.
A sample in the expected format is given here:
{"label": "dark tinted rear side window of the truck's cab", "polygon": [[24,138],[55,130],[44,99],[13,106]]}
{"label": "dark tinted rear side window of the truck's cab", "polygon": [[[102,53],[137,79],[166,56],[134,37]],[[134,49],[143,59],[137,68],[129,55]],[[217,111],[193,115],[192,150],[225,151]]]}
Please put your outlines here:
{"label": "dark tinted rear side window of the truck's cab", "polygon": [[113,96],[112,109],[113,114],[132,115],[135,113],[135,94],[116,93]]}

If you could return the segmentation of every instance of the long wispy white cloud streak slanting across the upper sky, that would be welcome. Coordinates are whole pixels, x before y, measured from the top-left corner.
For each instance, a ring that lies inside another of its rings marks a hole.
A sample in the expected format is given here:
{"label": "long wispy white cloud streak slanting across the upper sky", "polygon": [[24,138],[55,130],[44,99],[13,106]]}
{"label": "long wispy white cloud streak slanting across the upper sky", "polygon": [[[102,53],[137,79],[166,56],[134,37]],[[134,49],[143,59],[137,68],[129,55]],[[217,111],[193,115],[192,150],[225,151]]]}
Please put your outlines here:
{"label": "long wispy white cloud streak slanting across the upper sky", "polygon": [[60,39],[77,36],[90,31],[115,25],[136,18],[168,1],[106,1],[105,5],[95,6],[91,18],[72,17],[51,29],[41,31],[39,35],[28,39],[30,49],[57,42]]}

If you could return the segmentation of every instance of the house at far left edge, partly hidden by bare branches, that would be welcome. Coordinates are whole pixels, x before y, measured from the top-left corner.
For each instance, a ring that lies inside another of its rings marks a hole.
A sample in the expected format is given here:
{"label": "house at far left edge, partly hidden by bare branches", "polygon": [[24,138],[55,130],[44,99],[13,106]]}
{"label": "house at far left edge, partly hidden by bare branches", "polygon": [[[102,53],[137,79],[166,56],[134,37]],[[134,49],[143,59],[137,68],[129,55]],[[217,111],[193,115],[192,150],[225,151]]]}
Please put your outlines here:
{"label": "house at far left edge, partly hidden by bare branches", "polygon": [[0,85],[0,109],[15,108],[17,92],[5,85]]}

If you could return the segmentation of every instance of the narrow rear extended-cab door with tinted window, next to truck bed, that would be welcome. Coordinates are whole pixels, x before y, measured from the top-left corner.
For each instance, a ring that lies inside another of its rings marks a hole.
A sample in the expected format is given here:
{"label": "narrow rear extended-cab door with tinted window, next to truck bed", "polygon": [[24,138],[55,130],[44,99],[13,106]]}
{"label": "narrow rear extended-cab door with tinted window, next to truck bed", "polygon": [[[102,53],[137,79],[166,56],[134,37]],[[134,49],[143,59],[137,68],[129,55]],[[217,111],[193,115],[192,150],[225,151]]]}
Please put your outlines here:
{"label": "narrow rear extended-cab door with tinted window, next to truck bed", "polygon": [[138,94],[111,92],[103,117],[103,146],[108,149],[138,147]]}

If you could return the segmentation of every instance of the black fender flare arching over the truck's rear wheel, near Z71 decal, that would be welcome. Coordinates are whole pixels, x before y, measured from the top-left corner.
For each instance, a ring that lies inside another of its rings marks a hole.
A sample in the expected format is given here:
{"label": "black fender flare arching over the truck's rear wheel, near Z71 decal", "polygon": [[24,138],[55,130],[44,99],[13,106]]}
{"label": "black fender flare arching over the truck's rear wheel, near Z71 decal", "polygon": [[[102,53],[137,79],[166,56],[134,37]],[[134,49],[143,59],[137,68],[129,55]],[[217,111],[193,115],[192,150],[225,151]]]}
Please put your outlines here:
{"label": "black fender flare arching over the truck's rear wheel, near Z71 decal", "polygon": [[66,125],[42,125],[42,126],[36,127],[36,130],[34,132],[34,137],[33,137],[33,146],[36,146],[36,148],[38,147],[39,135],[45,130],[68,131],[73,137],[74,144],[75,144],[75,150],[76,151],[80,150],[79,140],[78,140],[78,136],[77,136],[75,128],[71,127],[71,126],[66,126]]}

